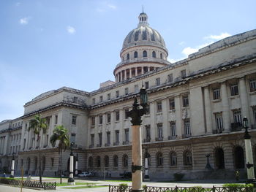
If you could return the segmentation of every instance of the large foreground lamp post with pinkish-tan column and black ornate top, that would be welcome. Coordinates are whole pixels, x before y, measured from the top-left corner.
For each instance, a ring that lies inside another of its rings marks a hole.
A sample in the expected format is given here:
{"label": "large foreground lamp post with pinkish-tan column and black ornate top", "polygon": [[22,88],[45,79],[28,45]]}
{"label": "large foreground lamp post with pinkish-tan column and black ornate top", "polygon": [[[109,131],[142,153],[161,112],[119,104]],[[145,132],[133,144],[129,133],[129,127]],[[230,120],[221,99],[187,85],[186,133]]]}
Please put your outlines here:
{"label": "large foreground lamp post with pinkish-tan column and black ornate top", "polygon": [[148,94],[146,88],[140,89],[140,104],[137,97],[128,116],[132,118],[132,192],[143,191],[142,188],[142,146],[141,146],[141,117],[146,114]]}

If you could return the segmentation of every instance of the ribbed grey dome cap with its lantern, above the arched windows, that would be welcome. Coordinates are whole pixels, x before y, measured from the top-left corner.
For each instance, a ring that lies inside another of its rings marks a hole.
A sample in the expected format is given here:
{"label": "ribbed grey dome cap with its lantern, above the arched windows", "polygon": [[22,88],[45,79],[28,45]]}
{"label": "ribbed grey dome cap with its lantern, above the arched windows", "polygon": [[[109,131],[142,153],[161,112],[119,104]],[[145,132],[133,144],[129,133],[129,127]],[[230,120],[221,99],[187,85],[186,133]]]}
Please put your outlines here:
{"label": "ribbed grey dome cap with its lantern, above the arched windows", "polygon": [[164,39],[157,30],[148,25],[147,19],[146,13],[140,13],[138,28],[129,32],[124,39],[122,50],[138,45],[152,45],[167,51]]}

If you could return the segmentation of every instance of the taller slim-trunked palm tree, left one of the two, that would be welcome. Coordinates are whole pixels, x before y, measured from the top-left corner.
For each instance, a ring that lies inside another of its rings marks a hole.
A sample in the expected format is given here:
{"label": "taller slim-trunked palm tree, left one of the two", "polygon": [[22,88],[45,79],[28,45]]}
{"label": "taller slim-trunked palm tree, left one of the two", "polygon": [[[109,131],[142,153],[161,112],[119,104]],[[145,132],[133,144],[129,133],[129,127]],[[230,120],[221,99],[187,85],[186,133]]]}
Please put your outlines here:
{"label": "taller slim-trunked palm tree, left one of the two", "polygon": [[40,133],[41,131],[45,134],[48,129],[46,118],[41,118],[41,115],[34,115],[34,119],[30,120],[29,131],[33,129],[34,134],[37,135],[38,151],[39,151],[39,181],[42,183],[42,170],[41,170],[41,151],[40,151]]}

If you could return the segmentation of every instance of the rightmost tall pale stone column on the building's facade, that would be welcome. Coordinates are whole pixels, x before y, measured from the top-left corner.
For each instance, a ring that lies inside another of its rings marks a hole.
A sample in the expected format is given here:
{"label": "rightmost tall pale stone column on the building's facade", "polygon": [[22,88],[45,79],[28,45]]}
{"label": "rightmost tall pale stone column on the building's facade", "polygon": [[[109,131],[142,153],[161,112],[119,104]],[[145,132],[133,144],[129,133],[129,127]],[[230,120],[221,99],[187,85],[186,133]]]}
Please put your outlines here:
{"label": "rightmost tall pale stone column on the building's facade", "polygon": [[241,116],[242,119],[244,117],[248,118],[248,125],[250,125],[250,117],[249,117],[249,103],[248,103],[248,95],[246,90],[246,82],[245,77],[241,77],[238,82],[239,85],[239,94],[241,101]]}

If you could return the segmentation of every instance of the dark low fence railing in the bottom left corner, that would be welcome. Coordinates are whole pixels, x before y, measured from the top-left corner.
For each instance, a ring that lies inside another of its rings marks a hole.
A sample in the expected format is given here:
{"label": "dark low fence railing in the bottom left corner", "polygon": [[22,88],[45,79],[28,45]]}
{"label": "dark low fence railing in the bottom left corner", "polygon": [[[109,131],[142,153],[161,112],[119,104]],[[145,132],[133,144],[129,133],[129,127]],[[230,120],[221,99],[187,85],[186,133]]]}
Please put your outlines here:
{"label": "dark low fence railing in the bottom left corner", "polygon": [[0,178],[0,183],[7,184],[7,185],[15,185],[15,186],[23,186],[29,188],[43,188],[43,189],[53,189],[56,190],[56,182],[49,183],[49,182],[42,182],[39,183],[38,181],[29,181],[29,180],[13,180],[7,178]]}

